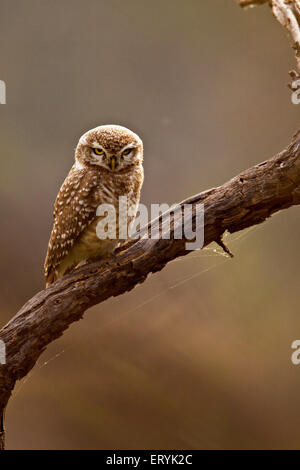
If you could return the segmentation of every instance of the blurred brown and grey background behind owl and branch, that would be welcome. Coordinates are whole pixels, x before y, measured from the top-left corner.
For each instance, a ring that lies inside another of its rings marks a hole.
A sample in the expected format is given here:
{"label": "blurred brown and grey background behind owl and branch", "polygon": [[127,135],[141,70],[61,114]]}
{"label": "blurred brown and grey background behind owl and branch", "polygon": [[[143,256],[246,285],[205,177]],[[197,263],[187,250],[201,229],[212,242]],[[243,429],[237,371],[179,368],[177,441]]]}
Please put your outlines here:
{"label": "blurred brown and grey background behind owl and branch", "polygon": [[[43,289],[81,134],[145,144],[142,202],[180,201],[299,129],[293,52],[234,0],[0,0],[0,321]],[[299,208],[169,264],[85,314],[18,382],[9,449],[300,447]]]}

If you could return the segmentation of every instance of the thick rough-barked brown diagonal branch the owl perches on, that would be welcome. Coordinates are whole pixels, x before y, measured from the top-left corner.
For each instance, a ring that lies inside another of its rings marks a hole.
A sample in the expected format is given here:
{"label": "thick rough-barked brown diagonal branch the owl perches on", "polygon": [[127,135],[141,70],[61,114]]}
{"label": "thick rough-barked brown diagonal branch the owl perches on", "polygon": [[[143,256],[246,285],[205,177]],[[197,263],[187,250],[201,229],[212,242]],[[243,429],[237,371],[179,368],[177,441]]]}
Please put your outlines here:
{"label": "thick rough-barked brown diagonal branch the owl perches on", "polygon": [[[300,204],[300,132],[280,154],[180,205],[187,203],[193,205],[193,221],[204,204],[205,245],[220,241],[226,230],[234,233],[260,224],[275,212]],[[160,222],[157,219],[150,226]],[[85,265],[39,292],[0,330],[7,354],[6,364],[0,365],[0,416],[15,382],[28,374],[47,345],[80,320],[88,308],[130,291],[148,274],[190,253],[185,249],[187,240],[172,239],[178,223],[181,218],[174,217],[170,240],[128,241],[108,261]]]}

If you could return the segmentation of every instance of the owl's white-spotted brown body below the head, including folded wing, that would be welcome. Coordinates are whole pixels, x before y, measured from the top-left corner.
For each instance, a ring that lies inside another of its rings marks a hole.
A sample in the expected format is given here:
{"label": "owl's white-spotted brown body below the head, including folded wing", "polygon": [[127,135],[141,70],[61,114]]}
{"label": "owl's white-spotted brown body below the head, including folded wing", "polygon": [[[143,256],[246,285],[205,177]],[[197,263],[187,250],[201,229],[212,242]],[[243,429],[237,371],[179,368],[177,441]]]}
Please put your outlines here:
{"label": "owl's white-spotted brown body below the head, including folded wing", "polygon": [[84,258],[84,250],[93,252],[92,246],[86,247],[87,242],[103,245],[105,241],[96,238],[97,207],[104,203],[116,207],[119,196],[123,195],[138,203],[142,176],[140,167],[133,168],[128,175],[72,167],[54,205],[53,229],[44,265],[47,285],[78,264]]}

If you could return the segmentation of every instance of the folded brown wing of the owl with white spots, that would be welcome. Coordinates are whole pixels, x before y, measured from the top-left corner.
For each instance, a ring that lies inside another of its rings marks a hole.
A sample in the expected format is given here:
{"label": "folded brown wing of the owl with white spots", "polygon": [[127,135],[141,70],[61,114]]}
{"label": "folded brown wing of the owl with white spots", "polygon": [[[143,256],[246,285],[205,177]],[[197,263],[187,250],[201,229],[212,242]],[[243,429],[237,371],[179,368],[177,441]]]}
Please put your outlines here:
{"label": "folded brown wing of the owl with white spots", "polygon": [[97,173],[73,167],[57,195],[54,222],[45,259],[47,284],[55,278],[55,270],[68,255],[78,237],[94,220],[100,204]]}

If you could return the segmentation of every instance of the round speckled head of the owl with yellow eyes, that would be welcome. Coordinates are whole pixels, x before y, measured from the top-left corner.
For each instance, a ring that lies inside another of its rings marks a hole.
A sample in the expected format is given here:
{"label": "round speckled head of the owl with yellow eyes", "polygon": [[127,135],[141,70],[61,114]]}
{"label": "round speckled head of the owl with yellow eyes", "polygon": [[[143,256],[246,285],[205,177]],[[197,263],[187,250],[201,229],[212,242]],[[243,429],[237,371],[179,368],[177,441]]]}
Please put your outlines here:
{"label": "round speckled head of the owl with yellow eyes", "polygon": [[143,161],[143,142],[126,127],[105,125],[95,127],[80,137],[75,151],[78,169],[100,167],[123,172]]}

